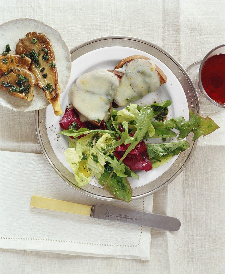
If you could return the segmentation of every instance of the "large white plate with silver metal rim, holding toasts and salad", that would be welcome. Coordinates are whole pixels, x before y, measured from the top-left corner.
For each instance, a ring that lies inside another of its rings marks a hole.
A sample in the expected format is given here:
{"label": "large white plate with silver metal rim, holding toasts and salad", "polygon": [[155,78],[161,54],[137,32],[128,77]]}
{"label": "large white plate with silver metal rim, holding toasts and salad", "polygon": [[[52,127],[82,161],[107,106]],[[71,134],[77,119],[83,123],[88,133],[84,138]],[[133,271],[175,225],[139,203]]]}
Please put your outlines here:
{"label": "large white plate with silver metal rim, holding toasts and salad", "polygon": [[[91,40],[72,50],[72,73],[65,92],[61,96],[62,110],[64,111],[65,107],[69,106],[69,89],[83,73],[98,68],[113,69],[119,61],[127,56],[145,55],[153,59],[163,70],[167,76],[167,82],[155,92],[144,96],[141,100],[135,101],[135,103],[150,104],[154,101],[162,102],[169,99],[172,101],[172,104],[169,106],[168,119],[178,116],[184,116],[185,119],[189,119],[190,110],[198,111],[198,99],[196,98],[193,84],[184,69],[172,56],[156,45],[147,43],[137,38],[109,36]],[[132,45],[132,47],[127,45]],[[120,109],[123,109],[123,107]],[[57,135],[57,132],[61,131],[59,126],[60,119],[60,117],[53,115],[50,106],[46,108],[46,112],[41,110],[36,113],[36,129],[39,143],[42,152],[53,169],[72,187],[87,195],[106,200],[115,199],[112,198],[109,192],[96,184],[95,180],[82,188],[76,186],[72,170],[63,155],[63,152],[68,148],[67,136]],[[190,148],[179,156],[173,157],[167,164],[149,172],[137,171],[139,180],[129,178],[133,189],[132,199],[138,199],[154,193],[172,181],[181,172],[196,145],[196,141],[191,142],[191,139],[191,136],[187,137]],[[174,140],[176,139],[167,139],[167,142]],[[160,143],[162,139],[150,139],[149,142]]]}

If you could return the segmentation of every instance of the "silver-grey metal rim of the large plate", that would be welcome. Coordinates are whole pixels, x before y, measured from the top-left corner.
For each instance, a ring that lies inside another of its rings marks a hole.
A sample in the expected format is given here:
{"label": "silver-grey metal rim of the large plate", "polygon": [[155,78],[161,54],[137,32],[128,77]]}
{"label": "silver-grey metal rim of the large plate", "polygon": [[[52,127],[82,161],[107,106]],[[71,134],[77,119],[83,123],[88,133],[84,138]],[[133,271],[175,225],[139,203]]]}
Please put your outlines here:
{"label": "silver-grey metal rim of the large plate", "polygon": [[[72,61],[75,60],[76,58],[78,58],[79,56],[81,56],[87,52],[90,52],[92,50],[95,50],[97,48],[110,47],[110,46],[132,47],[132,48],[137,48],[139,50],[143,50],[141,47],[143,47],[143,48],[147,47],[147,48],[151,49],[151,52],[149,52],[150,54],[152,54],[152,50],[155,50],[156,53],[158,53],[158,55],[163,54],[164,58],[166,58],[166,62],[170,62],[170,64],[166,63],[166,65],[169,68],[170,68],[170,65],[175,66],[176,69],[179,70],[178,71],[179,72],[178,80],[180,81],[180,83],[184,89],[184,92],[185,92],[185,95],[187,98],[187,102],[188,102],[188,106],[189,106],[189,110],[193,110],[194,112],[199,113],[200,108],[199,108],[198,97],[195,92],[194,85],[193,85],[191,79],[189,78],[187,72],[184,70],[184,68],[181,66],[181,64],[172,55],[170,55],[165,50],[163,50],[162,48],[158,47],[157,45],[155,45],[153,43],[150,43],[148,41],[145,41],[145,40],[142,40],[139,38],[130,37],[130,36],[100,37],[100,38],[96,38],[96,39],[92,39],[90,41],[84,42],[84,43],[74,47],[70,51],[71,56],[72,56]],[[147,52],[146,50],[143,50],[143,51]],[[152,54],[152,55],[154,55],[154,54]],[[156,58],[158,58],[157,55],[154,55],[154,56]],[[160,58],[158,58],[158,59],[160,59]],[[174,72],[173,70],[172,70],[172,72],[175,75],[176,75],[176,73],[178,73],[176,71]],[[71,187],[73,187],[74,189],[78,190],[81,193],[84,193],[88,196],[91,196],[91,197],[94,197],[97,199],[101,199],[101,200],[120,201],[120,200],[114,198],[112,195],[110,195],[110,193],[107,192],[107,190],[103,191],[99,187],[95,187],[95,186],[92,186],[89,184],[84,186],[84,188],[80,188],[77,185],[75,185],[75,182],[72,182],[71,176],[74,176],[74,175],[69,170],[67,170],[65,168],[65,166],[62,165],[62,163],[59,161],[59,159],[55,155],[55,153],[52,149],[52,146],[49,142],[49,139],[47,137],[47,130],[46,130],[46,125],[45,125],[45,112],[46,112],[45,109],[37,110],[35,112],[35,127],[36,127],[38,142],[41,147],[41,151],[42,151],[43,155],[45,156],[45,158],[47,159],[47,161],[49,162],[49,164],[51,165],[51,167],[53,168],[53,170],[55,170],[55,172],[67,184],[69,184]],[[174,162],[174,164],[165,173],[163,173],[163,175],[161,175],[159,178],[155,179],[152,182],[149,182],[143,186],[136,187],[133,189],[132,200],[136,200],[136,199],[140,199],[140,198],[144,198],[146,196],[152,195],[153,193],[157,192],[158,190],[162,189],[163,187],[168,185],[170,182],[172,182],[173,179],[175,179],[181,173],[181,171],[186,166],[188,160],[192,156],[192,154],[195,150],[196,144],[197,144],[197,140],[195,140],[194,142],[191,141],[192,137],[193,137],[192,133],[190,133],[189,136],[187,137],[187,141],[190,144],[189,149],[187,149],[186,151],[181,153],[178,156],[178,158],[176,159],[176,161]],[[48,152],[48,150],[49,150],[49,152]],[[51,156],[49,156],[49,154],[51,154]],[[59,168],[56,167],[56,165],[59,166]],[[62,170],[64,171],[66,176],[64,176]],[[68,179],[69,177],[71,180]],[[165,181],[165,179],[163,180],[163,177],[167,178],[166,181]],[[154,184],[155,184],[155,187],[151,187],[151,185],[153,186]],[[96,188],[97,188],[97,190],[96,190]],[[93,190],[95,190],[95,192],[97,194],[91,192]],[[102,195],[103,193],[100,193],[100,192],[103,192],[104,195],[106,195],[106,196],[103,196]]]}

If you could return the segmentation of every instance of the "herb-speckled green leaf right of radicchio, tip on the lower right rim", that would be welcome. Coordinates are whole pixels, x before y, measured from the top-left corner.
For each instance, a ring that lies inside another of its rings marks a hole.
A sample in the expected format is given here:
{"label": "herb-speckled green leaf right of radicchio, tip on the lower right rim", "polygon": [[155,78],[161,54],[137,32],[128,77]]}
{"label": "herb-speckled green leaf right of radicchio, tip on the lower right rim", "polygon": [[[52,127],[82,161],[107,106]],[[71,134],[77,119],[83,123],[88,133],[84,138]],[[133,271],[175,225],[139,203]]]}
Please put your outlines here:
{"label": "herb-speckled green leaf right of radicchio, tip on the lower right rim", "polygon": [[164,144],[147,144],[147,153],[149,155],[149,159],[152,160],[160,160],[161,157],[164,156],[174,156],[177,155],[184,150],[189,148],[189,143],[187,141],[179,141],[173,143],[164,143]]}

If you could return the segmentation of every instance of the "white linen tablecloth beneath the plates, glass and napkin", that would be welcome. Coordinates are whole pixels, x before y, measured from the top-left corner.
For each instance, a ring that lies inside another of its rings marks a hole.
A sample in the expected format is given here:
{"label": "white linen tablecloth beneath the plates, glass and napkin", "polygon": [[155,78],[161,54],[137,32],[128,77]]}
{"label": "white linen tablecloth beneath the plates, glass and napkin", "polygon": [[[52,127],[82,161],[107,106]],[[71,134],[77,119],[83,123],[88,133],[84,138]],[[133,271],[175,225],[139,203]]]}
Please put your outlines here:
{"label": "white linen tablecloth beneath the plates, glass and napkin", "polygon": [[[69,48],[105,35],[129,35],[163,47],[187,67],[225,37],[220,1],[10,1],[0,23],[19,17],[55,27]],[[185,170],[154,195],[153,212],[181,220],[176,236],[151,231],[150,261],[0,250],[2,273],[224,273],[224,112],[220,129],[200,138]],[[34,113],[0,107],[0,149],[41,153]],[[21,125],[25,125],[21,127]]]}

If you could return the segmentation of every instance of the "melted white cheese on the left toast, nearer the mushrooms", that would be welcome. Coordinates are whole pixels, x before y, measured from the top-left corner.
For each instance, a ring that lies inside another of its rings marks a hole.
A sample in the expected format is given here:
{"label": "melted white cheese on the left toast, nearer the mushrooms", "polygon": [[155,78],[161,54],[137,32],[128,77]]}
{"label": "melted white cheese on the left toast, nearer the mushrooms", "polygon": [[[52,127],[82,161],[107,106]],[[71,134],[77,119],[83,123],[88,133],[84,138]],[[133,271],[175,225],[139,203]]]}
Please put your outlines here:
{"label": "melted white cheese on the left toast, nearer the mushrooms", "polygon": [[119,78],[104,68],[81,75],[69,91],[81,122],[107,120],[118,86]]}

